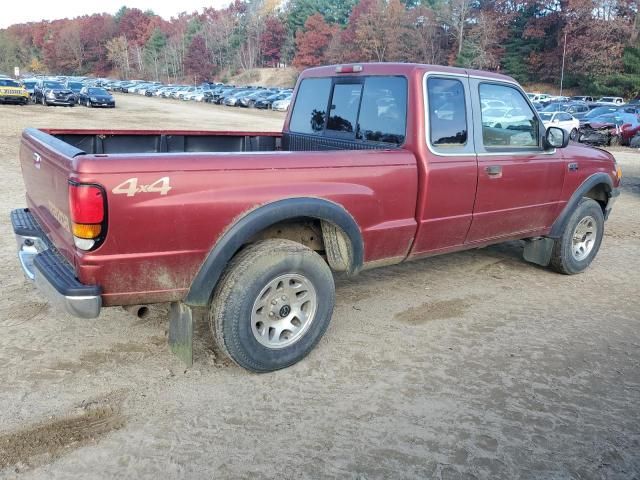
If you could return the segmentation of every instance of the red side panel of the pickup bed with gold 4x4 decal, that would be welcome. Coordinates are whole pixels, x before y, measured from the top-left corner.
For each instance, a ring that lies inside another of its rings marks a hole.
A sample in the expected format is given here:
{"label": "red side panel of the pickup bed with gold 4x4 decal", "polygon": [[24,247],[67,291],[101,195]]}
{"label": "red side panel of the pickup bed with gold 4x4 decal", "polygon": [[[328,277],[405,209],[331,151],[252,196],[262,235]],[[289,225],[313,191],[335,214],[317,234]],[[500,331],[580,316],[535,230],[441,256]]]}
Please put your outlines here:
{"label": "red side panel of the pickup bed with gold 4x4 decal", "polygon": [[[220,235],[280,199],[342,205],[360,227],[365,262],[405,257],[416,229],[417,167],[403,150],[83,156],[73,170],[107,191],[105,242],[76,253],[79,279],[100,284],[105,305],[183,298]],[[113,192],[165,176],[166,195]]]}

